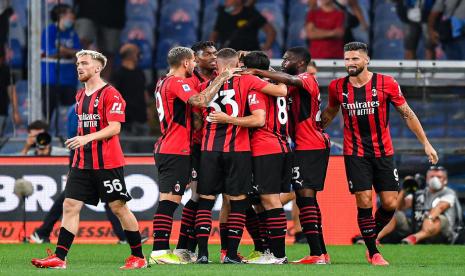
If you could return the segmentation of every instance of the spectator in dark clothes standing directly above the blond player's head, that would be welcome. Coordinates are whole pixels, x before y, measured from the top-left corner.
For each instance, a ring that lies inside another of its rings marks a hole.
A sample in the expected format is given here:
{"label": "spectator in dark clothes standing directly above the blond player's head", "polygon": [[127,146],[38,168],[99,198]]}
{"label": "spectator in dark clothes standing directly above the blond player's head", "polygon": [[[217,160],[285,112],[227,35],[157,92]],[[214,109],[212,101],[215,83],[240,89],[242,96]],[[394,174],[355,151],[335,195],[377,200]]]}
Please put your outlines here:
{"label": "spectator in dark clothes standing directly above the blond player's head", "polygon": [[126,24],[126,0],[74,0],[76,31],[85,49],[94,44],[108,59],[103,78],[109,79]]}

